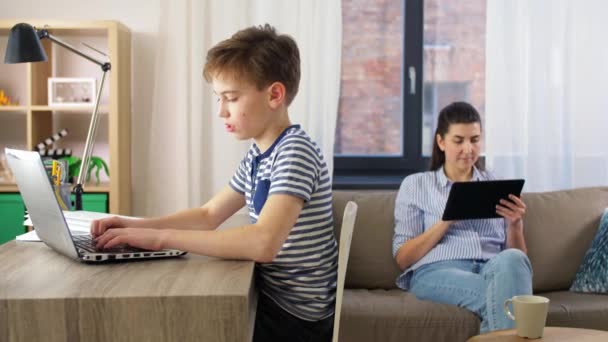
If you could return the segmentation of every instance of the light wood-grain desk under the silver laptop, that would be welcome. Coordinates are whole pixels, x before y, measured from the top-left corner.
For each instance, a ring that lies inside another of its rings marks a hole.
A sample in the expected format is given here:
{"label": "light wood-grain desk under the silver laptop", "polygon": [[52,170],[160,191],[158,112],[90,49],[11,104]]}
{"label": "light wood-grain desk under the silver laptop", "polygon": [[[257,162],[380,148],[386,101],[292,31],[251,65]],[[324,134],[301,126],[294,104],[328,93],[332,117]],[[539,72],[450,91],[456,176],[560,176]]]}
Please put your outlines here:
{"label": "light wood-grain desk under the silver laptop", "polygon": [[250,341],[254,263],[188,254],[86,265],[0,246],[0,341]]}

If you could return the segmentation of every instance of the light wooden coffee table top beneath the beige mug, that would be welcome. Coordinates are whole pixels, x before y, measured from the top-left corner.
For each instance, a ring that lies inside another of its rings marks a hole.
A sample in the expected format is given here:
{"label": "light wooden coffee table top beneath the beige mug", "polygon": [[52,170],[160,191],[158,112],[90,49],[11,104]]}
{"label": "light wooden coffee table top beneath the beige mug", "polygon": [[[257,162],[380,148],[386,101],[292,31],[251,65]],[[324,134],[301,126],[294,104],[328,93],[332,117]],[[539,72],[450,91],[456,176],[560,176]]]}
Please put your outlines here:
{"label": "light wooden coffee table top beneath the beige mug", "polygon": [[517,336],[515,329],[499,330],[488,334],[478,335],[470,338],[469,342],[529,342],[529,341],[572,341],[572,342],[605,342],[608,341],[608,331],[577,329],[577,328],[561,328],[561,327],[545,327],[543,337],[539,339],[527,339]]}

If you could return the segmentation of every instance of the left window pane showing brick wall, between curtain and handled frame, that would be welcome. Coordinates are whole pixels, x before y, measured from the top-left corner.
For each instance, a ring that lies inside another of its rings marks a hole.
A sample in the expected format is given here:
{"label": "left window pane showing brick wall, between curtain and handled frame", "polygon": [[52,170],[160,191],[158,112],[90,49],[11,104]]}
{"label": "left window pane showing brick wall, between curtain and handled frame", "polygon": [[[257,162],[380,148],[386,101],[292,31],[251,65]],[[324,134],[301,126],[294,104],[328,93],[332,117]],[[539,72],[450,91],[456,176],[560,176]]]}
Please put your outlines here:
{"label": "left window pane showing brick wall, between curtain and handled frame", "polygon": [[403,2],[343,1],[340,114],[335,151],[398,156],[403,140]]}

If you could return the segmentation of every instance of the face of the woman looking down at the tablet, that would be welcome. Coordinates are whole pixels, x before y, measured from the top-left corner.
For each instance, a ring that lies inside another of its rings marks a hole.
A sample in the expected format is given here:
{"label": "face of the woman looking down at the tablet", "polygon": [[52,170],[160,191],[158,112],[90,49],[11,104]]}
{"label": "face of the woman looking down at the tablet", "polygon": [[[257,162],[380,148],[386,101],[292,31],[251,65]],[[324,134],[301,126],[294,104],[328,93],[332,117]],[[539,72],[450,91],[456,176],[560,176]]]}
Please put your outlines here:
{"label": "face of the woman looking down at the tablet", "polygon": [[469,172],[479,159],[481,126],[479,123],[451,124],[441,137],[437,134],[439,149],[445,152],[446,166]]}

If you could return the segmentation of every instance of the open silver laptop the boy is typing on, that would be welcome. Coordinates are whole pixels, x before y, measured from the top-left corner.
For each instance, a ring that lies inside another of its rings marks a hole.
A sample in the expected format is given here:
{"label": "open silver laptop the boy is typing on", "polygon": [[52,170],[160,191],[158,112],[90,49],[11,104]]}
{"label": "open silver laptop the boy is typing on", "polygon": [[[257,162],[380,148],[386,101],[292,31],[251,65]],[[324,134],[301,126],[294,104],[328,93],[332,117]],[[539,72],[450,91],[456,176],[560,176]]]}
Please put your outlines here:
{"label": "open silver laptop the boy is typing on", "polygon": [[91,235],[72,235],[40,154],[9,148],[5,148],[4,152],[38,237],[55,251],[88,263],[167,258],[186,254],[175,249],[150,251],[130,246],[99,250]]}

